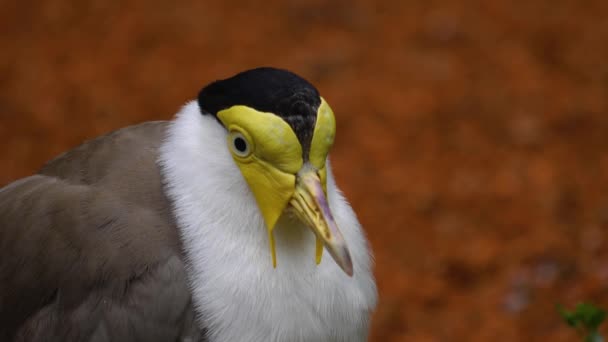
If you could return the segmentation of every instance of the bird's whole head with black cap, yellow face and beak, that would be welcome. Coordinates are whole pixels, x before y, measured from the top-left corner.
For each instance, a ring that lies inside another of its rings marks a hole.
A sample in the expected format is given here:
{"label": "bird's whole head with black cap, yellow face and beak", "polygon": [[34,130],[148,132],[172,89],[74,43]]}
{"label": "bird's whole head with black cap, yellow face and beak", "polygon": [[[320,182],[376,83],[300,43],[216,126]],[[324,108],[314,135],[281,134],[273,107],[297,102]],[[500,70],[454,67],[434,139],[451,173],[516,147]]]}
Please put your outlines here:
{"label": "bird's whole head with black cap, yellow face and beak", "polygon": [[211,83],[201,90],[203,113],[215,115],[227,130],[227,148],[245,178],[268,229],[273,265],[273,230],[292,211],[348,275],[348,247],[327,200],[326,159],[336,122],[327,102],[301,77],[258,68]]}

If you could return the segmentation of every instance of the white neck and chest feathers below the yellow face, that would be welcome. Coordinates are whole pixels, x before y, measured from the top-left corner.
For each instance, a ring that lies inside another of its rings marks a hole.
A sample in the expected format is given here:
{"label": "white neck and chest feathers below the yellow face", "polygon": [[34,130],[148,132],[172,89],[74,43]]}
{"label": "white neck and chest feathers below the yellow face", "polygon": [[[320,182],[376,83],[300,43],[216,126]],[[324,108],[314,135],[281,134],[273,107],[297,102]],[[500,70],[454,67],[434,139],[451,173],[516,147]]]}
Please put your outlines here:
{"label": "white neck and chest feathers below the yellow face", "polygon": [[370,252],[329,164],[328,200],[351,252],[352,278],[327,252],[316,265],[313,233],[286,216],[274,230],[272,267],[267,231],[225,134],[191,102],[174,120],[160,159],[210,340],[365,341],[377,299]]}

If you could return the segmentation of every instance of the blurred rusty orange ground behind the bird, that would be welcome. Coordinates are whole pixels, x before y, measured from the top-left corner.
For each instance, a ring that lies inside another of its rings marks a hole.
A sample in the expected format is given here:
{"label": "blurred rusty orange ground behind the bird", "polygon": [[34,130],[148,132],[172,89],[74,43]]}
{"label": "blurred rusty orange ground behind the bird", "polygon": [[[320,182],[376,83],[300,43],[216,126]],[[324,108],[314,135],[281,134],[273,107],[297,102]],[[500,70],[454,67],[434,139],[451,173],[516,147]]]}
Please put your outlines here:
{"label": "blurred rusty orange ground behind the bird", "polygon": [[608,300],[606,1],[3,1],[0,185],[269,65],[337,116],[372,341],[573,341]]}

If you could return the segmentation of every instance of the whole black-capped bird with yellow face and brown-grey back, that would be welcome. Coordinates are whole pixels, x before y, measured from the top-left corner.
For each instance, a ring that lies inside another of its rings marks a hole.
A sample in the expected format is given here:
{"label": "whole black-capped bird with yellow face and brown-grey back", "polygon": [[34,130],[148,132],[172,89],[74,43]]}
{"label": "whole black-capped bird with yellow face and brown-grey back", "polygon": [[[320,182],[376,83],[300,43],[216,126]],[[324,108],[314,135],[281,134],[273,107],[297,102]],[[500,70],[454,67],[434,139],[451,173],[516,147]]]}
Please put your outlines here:
{"label": "whole black-capped bird with yellow face and brown-grey back", "polygon": [[373,255],[335,133],[315,86],[257,67],[4,186],[0,340],[366,341]]}

